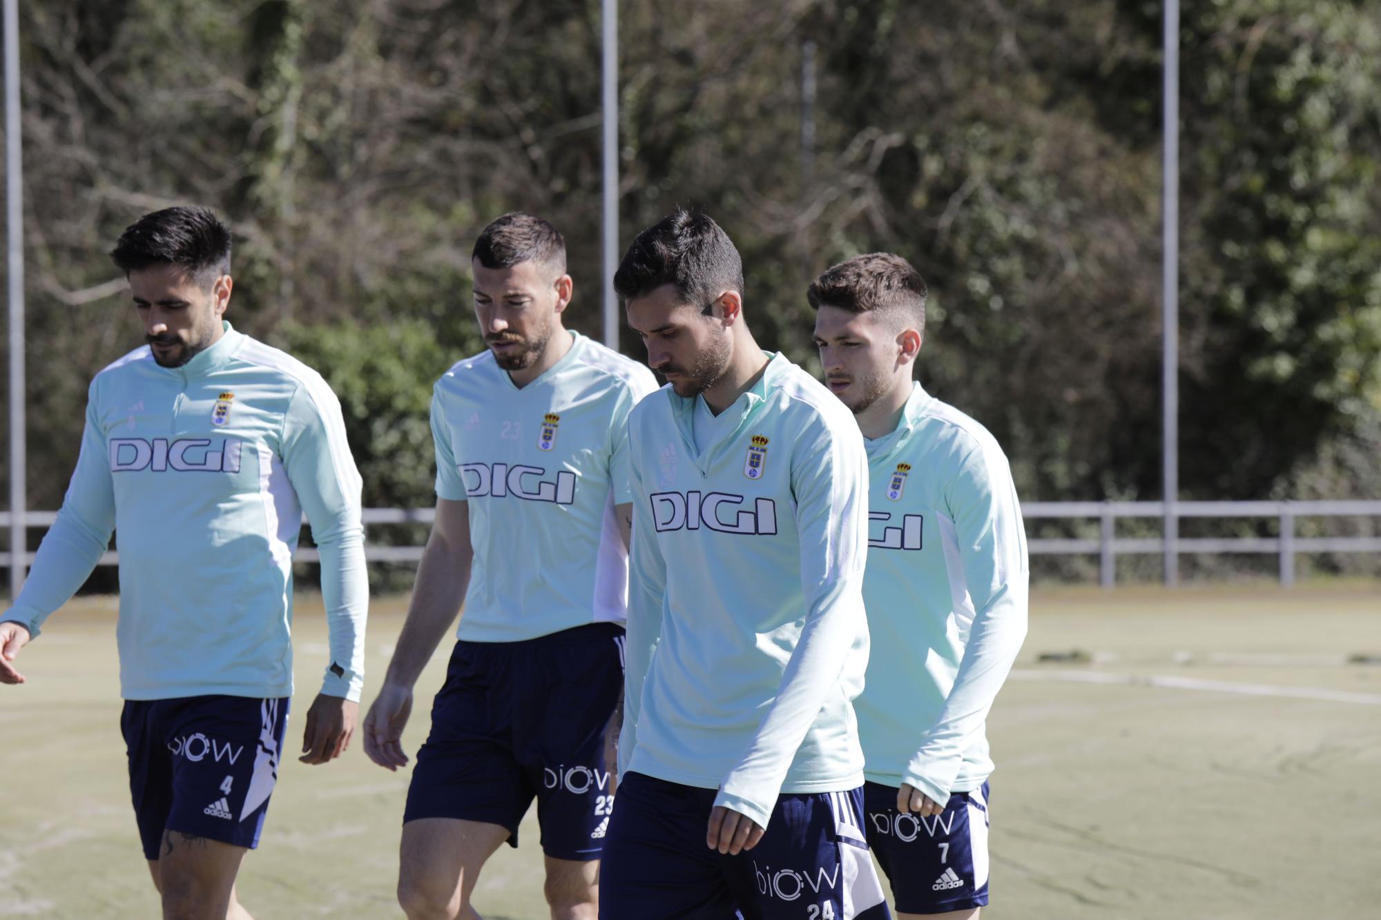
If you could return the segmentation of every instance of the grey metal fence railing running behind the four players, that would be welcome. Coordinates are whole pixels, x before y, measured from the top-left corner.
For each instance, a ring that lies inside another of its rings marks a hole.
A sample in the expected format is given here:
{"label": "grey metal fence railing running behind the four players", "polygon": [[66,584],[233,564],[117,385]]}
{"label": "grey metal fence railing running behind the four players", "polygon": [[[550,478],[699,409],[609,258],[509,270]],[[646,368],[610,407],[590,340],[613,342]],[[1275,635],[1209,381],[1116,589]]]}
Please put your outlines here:
{"label": "grey metal fence railing running behind the four players", "polygon": [[[1381,553],[1381,536],[1352,537],[1304,537],[1297,533],[1300,518],[1346,518],[1381,517],[1381,501],[1177,501],[1170,514],[1174,519],[1184,518],[1276,518],[1280,536],[1275,537],[1170,537],[1170,550],[1177,554],[1264,554],[1276,555],[1280,562],[1280,583],[1294,584],[1295,557],[1309,553]],[[431,524],[432,508],[365,508],[366,528],[395,524]],[[1098,580],[1103,587],[1116,582],[1116,561],[1119,555],[1160,555],[1166,551],[1166,539],[1119,537],[1117,521],[1132,518],[1164,519],[1166,506],[1161,501],[1027,501],[1022,504],[1022,517],[1027,525],[1041,519],[1084,519],[1098,521],[1098,537],[1032,537],[1027,548],[1032,555],[1098,555]],[[23,515],[26,528],[47,528],[57,518],[55,511],[28,511]],[[10,525],[10,512],[0,511],[0,529]],[[23,564],[33,562],[33,553],[23,554]],[[365,546],[365,558],[370,562],[417,562],[421,559],[421,546]],[[106,553],[99,565],[115,565],[117,553]],[[300,562],[316,562],[316,550],[302,547],[294,557]],[[6,568],[14,564],[10,553],[0,553],[0,564]]]}

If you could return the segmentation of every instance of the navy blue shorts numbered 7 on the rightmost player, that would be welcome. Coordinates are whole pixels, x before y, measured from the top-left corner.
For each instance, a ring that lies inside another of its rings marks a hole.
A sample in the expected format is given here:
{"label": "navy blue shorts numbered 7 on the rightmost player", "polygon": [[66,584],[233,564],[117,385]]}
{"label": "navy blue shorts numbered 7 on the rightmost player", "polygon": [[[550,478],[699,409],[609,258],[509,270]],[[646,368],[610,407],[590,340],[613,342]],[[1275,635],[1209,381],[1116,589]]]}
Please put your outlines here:
{"label": "navy blue shorts numbered 7 on the rightmost player", "polygon": [[987,783],[950,796],[932,818],[896,811],[896,787],[863,785],[867,841],[902,913],[987,905]]}

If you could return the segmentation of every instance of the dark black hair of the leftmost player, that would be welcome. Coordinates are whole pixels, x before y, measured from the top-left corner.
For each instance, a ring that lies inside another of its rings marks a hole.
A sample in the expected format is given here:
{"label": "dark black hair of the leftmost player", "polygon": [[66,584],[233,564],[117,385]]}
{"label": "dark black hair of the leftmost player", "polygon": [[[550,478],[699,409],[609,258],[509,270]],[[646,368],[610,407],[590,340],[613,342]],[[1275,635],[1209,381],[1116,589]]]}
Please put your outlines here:
{"label": "dark black hair of the leftmost player", "polygon": [[124,228],[110,260],[128,278],[152,265],[178,265],[210,286],[231,274],[231,231],[206,207],[167,207]]}

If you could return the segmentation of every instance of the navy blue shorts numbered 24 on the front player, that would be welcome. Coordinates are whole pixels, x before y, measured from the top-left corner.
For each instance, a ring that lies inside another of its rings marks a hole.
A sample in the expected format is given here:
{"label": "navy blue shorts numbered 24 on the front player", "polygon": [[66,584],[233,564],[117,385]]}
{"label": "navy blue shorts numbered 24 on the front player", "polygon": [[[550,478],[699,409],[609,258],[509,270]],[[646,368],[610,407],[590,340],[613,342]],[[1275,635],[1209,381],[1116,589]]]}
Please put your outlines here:
{"label": "navy blue shorts numbered 24 on the front player", "polygon": [[599,920],[887,920],[863,790],[778,797],[758,845],[704,844],[715,790],[630,772],[599,865]]}

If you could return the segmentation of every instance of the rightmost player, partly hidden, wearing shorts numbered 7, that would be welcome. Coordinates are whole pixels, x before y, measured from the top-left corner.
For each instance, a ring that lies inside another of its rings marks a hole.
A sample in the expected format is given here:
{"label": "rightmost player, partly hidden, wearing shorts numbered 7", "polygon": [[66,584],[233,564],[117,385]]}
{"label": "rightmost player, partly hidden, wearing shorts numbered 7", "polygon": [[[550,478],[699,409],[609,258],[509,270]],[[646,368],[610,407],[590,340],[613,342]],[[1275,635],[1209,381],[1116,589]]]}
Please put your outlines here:
{"label": "rightmost player, partly hidden, wearing shorts numbered 7", "polygon": [[873,655],[855,702],[869,843],[899,917],[975,917],[989,876],[983,725],[1026,635],[1026,535],[997,441],[911,380],[925,296],[887,253],[807,293],[826,385],[853,412],[871,478]]}

